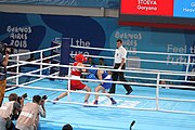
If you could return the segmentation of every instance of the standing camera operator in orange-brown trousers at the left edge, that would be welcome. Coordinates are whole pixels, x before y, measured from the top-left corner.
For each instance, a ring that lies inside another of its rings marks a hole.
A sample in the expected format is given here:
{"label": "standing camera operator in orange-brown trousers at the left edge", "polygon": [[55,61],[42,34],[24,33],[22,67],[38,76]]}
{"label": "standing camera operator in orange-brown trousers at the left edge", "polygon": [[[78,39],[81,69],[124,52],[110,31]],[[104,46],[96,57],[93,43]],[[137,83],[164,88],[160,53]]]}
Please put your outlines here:
{"label": "standing camera operator in orange-brown trousers at the left edge", "polygon": [[[11,50],[9,48],[4,50],[4,53],[2,52],[2,50],[0,50],[0,106],[3,102],[4,91],[6,87],[6,65],[9,62],[10,52]],[[3,55],[5,56],[3,57]]]}

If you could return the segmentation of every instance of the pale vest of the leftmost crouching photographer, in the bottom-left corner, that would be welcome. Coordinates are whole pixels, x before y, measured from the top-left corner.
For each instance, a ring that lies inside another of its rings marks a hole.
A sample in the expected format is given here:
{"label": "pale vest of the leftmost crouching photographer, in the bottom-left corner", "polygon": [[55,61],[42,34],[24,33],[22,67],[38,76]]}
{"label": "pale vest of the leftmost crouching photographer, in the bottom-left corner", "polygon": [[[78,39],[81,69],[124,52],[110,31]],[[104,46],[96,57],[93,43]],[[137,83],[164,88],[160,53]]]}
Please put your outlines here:
{"label": "pale vest of the leftmost crouching photographer, in the bottom-left corner", "polygon": [[9,118],[13,114],[13,104],[15,101],[6,102],[0,107],[0,117]]}

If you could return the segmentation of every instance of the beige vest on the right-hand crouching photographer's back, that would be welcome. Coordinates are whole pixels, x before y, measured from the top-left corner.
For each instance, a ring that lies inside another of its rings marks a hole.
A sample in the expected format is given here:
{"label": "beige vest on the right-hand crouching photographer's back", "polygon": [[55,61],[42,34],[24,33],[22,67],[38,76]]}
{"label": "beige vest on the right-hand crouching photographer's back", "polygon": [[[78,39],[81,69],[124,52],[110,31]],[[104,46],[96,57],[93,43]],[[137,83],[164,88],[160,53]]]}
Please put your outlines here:
{"label": "beige vest on the right-hand crouching photographer's back", "polygon": [[20,117],[16,121],[16,127],[23,126],[35,126],[37,128],[38,121],[39,121],[39,105],[37,103],[26,103],[23,106],[23,109],[20,114]]}

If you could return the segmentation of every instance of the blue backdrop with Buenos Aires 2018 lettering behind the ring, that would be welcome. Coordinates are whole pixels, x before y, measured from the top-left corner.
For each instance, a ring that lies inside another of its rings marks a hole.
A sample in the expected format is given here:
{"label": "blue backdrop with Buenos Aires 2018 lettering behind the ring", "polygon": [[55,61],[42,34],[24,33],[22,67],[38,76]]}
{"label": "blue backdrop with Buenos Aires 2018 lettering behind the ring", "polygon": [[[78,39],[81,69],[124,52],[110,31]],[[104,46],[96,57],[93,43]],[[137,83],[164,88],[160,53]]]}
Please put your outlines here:
{"label": "blue backdrop with Buenos Aires 2018 lettering behind the ring", "polygon": [[[128,51],[167,52],[195,54],[195,31],[182,29],[157,29],[131,26],[119,26],[118,18],[0,13],[0,41],[16,47],[18,50],[34,51],[52,47],[55,38],[70,38],[70,54],[114,56],[114,52],[89,50],[87,48],[116,49],[116,40],[122,39]],[[66,53],[68,54],[68,53]],[[184,56],[145,55],[135,52],[128,57],[139,60],[152,58],[167,61],[167,64],[138,63],[141,68],[185,70]],[[73,62],[73,58],[70,57]],[[195,60],[192,60],[192,62]],[[98,64],[99,58],[94,58]],[[178,63],[170,63],[178,62]],[[66,63],[65,63],[66,64]],[[106,65],[113,65],[113,60],[105,60]],[[127,66],[131,67],[127,62]]]}

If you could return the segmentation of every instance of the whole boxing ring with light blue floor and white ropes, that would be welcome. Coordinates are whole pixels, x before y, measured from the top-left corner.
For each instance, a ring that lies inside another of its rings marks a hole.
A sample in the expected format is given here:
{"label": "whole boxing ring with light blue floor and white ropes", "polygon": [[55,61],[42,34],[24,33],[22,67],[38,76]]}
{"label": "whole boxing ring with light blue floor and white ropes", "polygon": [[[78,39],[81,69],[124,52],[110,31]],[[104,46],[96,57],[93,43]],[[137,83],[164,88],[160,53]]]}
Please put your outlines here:
{"label": "whole boxing ring with light blue floor and white ropes", "polygon": [[[10,62],[14,64],[8,66],[8,68],[14,68],[14,72],[8,72],[9,88],[6,89],[5,96],[13,92],[18,95],[27,93],[28,98],[25,102],[31,102],[31,98],[35,94],[48,95],[46,103],[47,118],[41,118],[40,120],[41,130],[61,130],[65,123],[70,123],[74,130],[129,130],[132,120],[136,121],[133,130],[153,130],[156,128],[158,130],[192,130],[195,128],[195,87],[191,86],[194,82],[187,79],[187,77],[194,76],[194,74],[188,72],[188,67],[194,65],[194,63],[191,63],[191,56],[195,55],[183,54],[183,56],[187,57],[187,62],[180,63],[186,64],[186,70],[184,72],[127,68],[125,73],[128,82],[113,81],[117,83],[117,87],[116,93],[110,95],[117,101],[116,105],[112,105],[109,100],[104,96],[105,94],[100,92],[100,104],[94,106],[92,104],[95,94],[94,88],[99,84],[99,81],[105,80],[96,81],[81,78],[80,80],[92,89],[89,99],[90,107],[83,107],[83,99],[87,92],[69,90],[69,80],[74,79],[70,77],[73,66],[61,65],[60,63],[44,63],[46,60],[60,57],[61,54],[43,57],[43,53],[51,50],[57,51],[60,48],[61,46],[56,46],[50,49],[13,54]],[[82,47],[75,46],[72,46],[72,48],[83,49]],[[113,49],[88,49],[115,51]],[[136,51],[136,53],[182,55],[141,51]],[[21,56],[30,54],[37,54],[40,58],[31,62],[21,60]],[[109,56],[88,56],[113,60]],[[135,60],[128,57],[127,61],[167,64],[167,61],[148,58]],[[68,74],[60,76],[58,69],[53,74],[46,73],[53,67],[68,68]],[[88,69],[89,67],[82,68]],[[114,72],[112,66],[100,66],[96,69]],[[176,77],[184,78],[178,79]],[[161,80],[166,80],[169,83],[160,84]],[[133,92],[130,95],[126,95],[126,90],[121,83],[131,84]],[[53,100],[65,91],[68,92],[68,95],[53,104]],[[4,101],[8,101],[8,99]]]}

